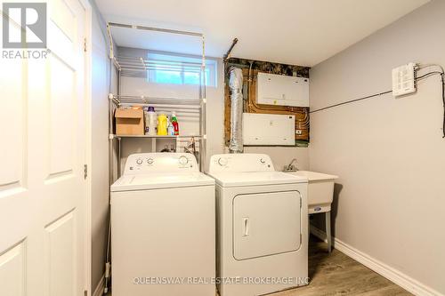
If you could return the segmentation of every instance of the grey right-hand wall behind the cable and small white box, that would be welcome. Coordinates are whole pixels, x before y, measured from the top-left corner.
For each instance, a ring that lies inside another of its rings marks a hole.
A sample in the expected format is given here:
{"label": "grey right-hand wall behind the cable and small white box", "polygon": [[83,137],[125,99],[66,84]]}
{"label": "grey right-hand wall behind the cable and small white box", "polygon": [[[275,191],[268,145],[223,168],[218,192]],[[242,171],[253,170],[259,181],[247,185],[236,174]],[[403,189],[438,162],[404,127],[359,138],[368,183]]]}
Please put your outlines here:
{"label": "grey right-hand wall behind the cable and small white box", "polygon": [[[445,1],[435,0],[311,70],[311,109],[391,89],[409,61],[445,66]],[[340,176],[335,236],[445,293],[441,83],[311,115],[310,166]]]}

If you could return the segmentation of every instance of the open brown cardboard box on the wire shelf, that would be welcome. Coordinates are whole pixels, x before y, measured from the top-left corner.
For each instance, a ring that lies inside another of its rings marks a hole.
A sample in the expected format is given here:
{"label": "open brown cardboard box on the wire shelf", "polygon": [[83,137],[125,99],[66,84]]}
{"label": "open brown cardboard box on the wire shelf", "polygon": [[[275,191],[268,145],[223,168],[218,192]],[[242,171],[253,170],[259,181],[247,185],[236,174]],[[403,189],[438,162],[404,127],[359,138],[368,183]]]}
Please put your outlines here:
{"label": "open brown cardboard box on the wire shelf", "polygon": [[116,134],[117,135],[143,135],[143,110],[142,109],[122,109],[115,112]]}

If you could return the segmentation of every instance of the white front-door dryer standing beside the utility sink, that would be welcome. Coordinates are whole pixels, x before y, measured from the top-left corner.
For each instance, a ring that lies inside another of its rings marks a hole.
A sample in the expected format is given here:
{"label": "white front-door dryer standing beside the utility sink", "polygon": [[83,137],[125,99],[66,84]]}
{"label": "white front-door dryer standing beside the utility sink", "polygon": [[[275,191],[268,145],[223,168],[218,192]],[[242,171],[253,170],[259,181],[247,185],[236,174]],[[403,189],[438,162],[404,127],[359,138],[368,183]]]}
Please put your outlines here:
{"label": "white front-door dryer standing beside the utility sink", "polygon": [[262,154],[211,157],[216,180],[216,276],[221,296],[308,284],[307,179],[275,172]]}

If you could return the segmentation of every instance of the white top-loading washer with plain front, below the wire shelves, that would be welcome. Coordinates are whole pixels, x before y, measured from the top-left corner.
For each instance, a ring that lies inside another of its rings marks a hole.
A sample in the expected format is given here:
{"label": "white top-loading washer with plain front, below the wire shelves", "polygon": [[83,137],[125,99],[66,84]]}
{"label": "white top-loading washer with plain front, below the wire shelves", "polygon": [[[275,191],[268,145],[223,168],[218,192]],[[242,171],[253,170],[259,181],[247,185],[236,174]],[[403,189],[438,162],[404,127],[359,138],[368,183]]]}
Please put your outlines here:
{"label": "white top-loading washer with plain front, below the wire shelves", "polygon": [[214,180],[194,156],[129,156],[111,186],[113,296],[214,296]]}

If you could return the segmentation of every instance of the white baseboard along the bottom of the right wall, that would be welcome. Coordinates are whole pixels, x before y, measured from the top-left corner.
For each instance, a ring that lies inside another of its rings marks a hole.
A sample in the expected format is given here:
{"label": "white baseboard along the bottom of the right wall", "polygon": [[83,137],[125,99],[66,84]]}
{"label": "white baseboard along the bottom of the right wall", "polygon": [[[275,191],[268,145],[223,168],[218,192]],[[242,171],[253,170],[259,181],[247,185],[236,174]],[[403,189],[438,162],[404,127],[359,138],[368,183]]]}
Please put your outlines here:
{"label": "white baseboard along the bottom of the right wall", "polygon": [[[311,225],[311,234],[319,237],[324,242],[327,242],[326,233],[320,228],[316,228]],[[377,274],[386,277],[392,283],[400,285],[403,289],[407,290],[418,296],[445,296],[440,292],[434,291],[432,288],[427,287],[425,284],[419,283],[412,277],[403,274],[401,271],[392,268],[383,262],[376,260],[364,252],[353,248],[351,245],[342,242],[341,240],[333,237],[333,246],[336,250],[343,252],[345,255],[351,257],[353,260],[359,261],[361,264],[374,270]]]}

